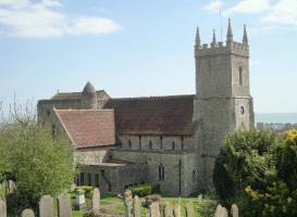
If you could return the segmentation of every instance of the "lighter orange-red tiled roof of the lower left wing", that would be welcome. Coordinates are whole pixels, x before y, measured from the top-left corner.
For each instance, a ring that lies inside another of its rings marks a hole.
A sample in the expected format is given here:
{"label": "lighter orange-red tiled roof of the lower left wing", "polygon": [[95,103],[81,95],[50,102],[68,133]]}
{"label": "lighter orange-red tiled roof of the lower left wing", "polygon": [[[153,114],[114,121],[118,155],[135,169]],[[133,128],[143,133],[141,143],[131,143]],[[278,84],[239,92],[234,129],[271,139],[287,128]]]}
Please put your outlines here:
{"label": "lighter orange-red tiled roof of the lower left wing", "polygon": [[75,148],[115,143],[113,110],[54,110]]}

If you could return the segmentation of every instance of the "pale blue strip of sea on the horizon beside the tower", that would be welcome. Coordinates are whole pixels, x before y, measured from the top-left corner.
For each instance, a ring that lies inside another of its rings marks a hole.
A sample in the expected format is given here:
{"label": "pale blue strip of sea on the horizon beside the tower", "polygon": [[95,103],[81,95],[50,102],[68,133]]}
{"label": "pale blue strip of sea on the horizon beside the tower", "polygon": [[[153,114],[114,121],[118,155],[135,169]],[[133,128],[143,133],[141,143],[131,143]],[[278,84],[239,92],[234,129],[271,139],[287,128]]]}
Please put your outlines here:
{"label": "pale blue strip of sea on the horizon beside the tower", "polygon": [[256,123],[296,124],[297,113],[256,113]]}

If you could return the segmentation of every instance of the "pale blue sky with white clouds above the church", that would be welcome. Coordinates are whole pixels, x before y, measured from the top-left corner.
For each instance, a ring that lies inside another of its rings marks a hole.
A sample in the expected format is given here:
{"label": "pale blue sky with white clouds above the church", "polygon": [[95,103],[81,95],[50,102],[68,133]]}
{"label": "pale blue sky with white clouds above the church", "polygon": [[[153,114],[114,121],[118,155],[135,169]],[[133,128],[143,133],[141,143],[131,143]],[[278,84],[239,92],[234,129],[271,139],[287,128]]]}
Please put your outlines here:
{"label": "pale blue sky with white clouds above the church", "polygon": [[248,27],[255,111],[297,112],[296,0],[0,0],[0,101],[87,80],[115,98],[194,93],[196,26],[207,43],[222,23],[225,40],[227,17],[237,41]]}

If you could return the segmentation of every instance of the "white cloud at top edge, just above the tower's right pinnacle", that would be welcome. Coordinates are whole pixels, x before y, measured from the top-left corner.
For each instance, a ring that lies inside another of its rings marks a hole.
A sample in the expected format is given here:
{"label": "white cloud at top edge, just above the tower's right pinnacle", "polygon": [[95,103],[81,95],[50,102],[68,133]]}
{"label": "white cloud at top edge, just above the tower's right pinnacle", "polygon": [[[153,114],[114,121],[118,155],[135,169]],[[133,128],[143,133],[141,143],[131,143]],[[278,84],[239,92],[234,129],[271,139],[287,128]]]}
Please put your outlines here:
{"label": "white cloud at top edge, just above the tower's right pinnacle", "polygon": [[240,0],[234,7],[224,11],[224,15],[232,13],[260,13],[270,9],[270,0]]}

